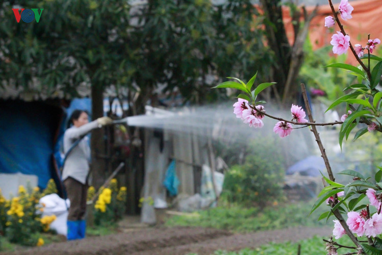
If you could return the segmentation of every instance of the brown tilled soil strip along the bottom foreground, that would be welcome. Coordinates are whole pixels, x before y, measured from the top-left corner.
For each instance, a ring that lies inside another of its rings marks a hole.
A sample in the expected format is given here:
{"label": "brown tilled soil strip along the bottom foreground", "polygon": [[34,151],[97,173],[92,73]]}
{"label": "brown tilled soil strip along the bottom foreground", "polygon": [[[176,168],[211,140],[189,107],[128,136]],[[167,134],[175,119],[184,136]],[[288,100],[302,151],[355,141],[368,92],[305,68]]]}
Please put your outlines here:
{"label": "brown tilled soil strip along the bottom foreground", "polygon": [[60,254],[133,254],[177,255],[195,252],[199,255],[213,251],[255,248],[269,242],[298,242],[315,235],[329,236],[332,228],[295,227],[284,230],[234,234],[229,231],[202,227],[158,227],[125,230],[103,237],[52,243],[42,247],[1,253],[7,255]]}

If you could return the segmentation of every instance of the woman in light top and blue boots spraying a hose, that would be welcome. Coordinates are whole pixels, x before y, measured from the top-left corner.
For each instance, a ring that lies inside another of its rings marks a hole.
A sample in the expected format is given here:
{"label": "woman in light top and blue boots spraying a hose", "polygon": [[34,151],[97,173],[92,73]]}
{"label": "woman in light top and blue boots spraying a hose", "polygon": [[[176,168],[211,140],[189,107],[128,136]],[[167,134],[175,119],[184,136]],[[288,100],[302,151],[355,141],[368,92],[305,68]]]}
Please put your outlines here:
{"label": "woman in light top and blue boots spraying a hose", "polygon": [[[101,117],[89,123],[86,111],[74,110],[68,121],[68,129],[64,134],[65,155],[73,144],[91,130],[103,125],[111,124],[112,119]],[[85,237],[85,212],[88,191],[90,147],[88,137],[84,137],[67,155],[62,171],[62,181],[67,197],[70,200],[68,214],[67,239],[81,239]]]}

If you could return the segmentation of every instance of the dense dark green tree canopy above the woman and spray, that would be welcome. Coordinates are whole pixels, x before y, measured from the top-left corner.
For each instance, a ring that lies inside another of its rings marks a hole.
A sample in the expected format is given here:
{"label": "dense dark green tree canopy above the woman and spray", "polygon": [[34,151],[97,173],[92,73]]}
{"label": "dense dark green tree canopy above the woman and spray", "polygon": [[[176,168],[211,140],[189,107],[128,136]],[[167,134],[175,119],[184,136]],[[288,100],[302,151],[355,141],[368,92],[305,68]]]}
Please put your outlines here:
{"label": "dense dark green tree canopy above the woman and spray", "polygon": [[[44,11],[39,22],[17,23],[12,5]],[[78,84],[100,90],[113,84],[118,91],[139,91],[145,105],[165,84],[165,92],[178,88],[185,100],[203,102],[225,96],[209,89],[216,82],[211,77],[257,69],[264,79],[268,73],[262,19],[254,19],[260,15],[250,0],[150,0],[138,6],[7,0],[0,6],[0,77],[32,94],[70,97],[78,96]]]}

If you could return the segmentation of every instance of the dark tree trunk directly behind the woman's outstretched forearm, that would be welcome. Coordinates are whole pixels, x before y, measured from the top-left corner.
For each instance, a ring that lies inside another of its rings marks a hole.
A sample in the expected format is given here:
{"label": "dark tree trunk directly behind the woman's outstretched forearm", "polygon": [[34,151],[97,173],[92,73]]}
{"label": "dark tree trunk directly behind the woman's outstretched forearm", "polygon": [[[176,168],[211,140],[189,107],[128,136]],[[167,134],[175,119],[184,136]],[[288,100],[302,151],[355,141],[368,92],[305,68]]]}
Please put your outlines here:
{"label": "dark tree trunk directly behind the woman's outstretched forearm", "polygon": [[[92,84],[92,119],[95,120],[103,116],[103,89],[102,86]],[[93,186],[98,189],[102,186],[106,172],[105,160],[105,140],[104,129],[95,129],[92,131],[91,138],[91,172],[93,177]]]}

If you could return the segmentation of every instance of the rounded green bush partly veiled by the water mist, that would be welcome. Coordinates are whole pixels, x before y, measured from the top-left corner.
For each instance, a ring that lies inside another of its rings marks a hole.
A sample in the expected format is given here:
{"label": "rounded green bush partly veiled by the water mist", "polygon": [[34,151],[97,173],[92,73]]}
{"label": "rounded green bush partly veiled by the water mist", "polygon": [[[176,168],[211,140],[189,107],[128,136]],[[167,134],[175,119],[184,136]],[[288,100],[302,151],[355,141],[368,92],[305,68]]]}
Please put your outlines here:
{"label": "rounded green bush partly veiled by the water mist", "polygon": [[250,144],[243,165],[234,165],[224,178],[222,199],[264,206],[282,198],[284,158],[275,138],[258,138]]}

